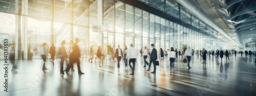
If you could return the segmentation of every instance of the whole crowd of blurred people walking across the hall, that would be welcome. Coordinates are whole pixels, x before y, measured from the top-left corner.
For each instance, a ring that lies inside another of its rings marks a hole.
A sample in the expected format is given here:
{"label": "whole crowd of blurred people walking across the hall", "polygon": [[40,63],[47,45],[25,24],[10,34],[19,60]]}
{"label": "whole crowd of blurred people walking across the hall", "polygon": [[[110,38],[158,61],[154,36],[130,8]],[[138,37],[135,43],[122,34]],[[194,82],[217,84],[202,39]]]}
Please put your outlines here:
{"label": "whole crowd of blurred people walking across the hall", "polygon": [[[42,45],[39,48],[39,53],[41,55],[42,60],[44,61],[43,65],[42,65],[42,70],[47,70],[45,63],[46,63],[46,58],[47,58],[47,54],[49,52],[49,54],[51,55],[51,62],[54,65],[54,57],[57,54],[58,57],[60,58],[60,74],[64,75],[66,71],[66,74],[69,75],[69,71],[75,71],[74,70],[74,63],[77,63],[77,68],[78,68],[78,74],[84,74],[82,73],[81,69],[80,69],[80,49],[79,49],[79,45],[78,45],[79,39],[76,38],[75,39],[75,43],[73,43],[73,41],[70,41],[70,47],[67,50],[67,48],[65,47],[65,45],[67,44],[65,40],[63,40],[61,42],[61,46],[58,47],[58,50],[56,51],[56,48],[54,46],[54,44],[52,44],[52,46],[50,47],[50,50],[48,50],[47,47],[47,43],[42,43]],[[110,46],[111,47],[111,46]],[[157,51],[157,49],[155,48],[154,44],[151,44],[151,48],[147,49],[147,47],[143,47],[143,49],[138,50],[135,49],[133,44],[130,44],[130,48],[127,49],[127,46],[124,45],[124,49],[122,50],[120,48],[120,45],[118,45],[118,48],[115,49],[115,46],[111,47],[111,57],[112,57],[112,61],[117,62],[117,68],[120,68],[120,61],[123,60],[124,61],[124,65],[125,68],[129,66],[132,69],[132,73],[130,75],[134,75],[134,70],[135,70],[135,63],[136,63],[136,59],[137,57],[140,56],[144,59],[144,66],[146,68],[146,65],[148,65],[148,69],[146,71],[150,71],[151,65],[153,63],[154,66],[154,70],[151,72],[153,74],[156,73],[156,65],[159,65],[160,67],[163,67],[164,64],[164,60],[169,60],[170,62],[170,70],[172,70],[172,68],[174,68],[174,62],[176,59],[183,59],[183,62],[187,63],[187,67],[190,67],[190,60],[191,58],[194,58],[194,55],[197,56],[197,58],[200,58],[203,60],[202,63],[206,64],[206,57],[208,55],[208,57],[212,57],[212,58],[222,58],[225,56],[226,60],[229,60],[229,57],[236,57],[237,54],[241,54],[241,57],[243,57],[243,54],[245,54],[245,57],[247,56],[254,56],[256,55],[255,52],[252,51],[245,51],[245,52],[237,52],[237,51],[228,51],[228,50],[218,50],[214,51],[214,50],[205,50],[204,48],[202,50],[196,50],[194,51],[193,49],[190,50],[190,47],[184,47],[183,50],[179,49],[174,49],[174,47],[170,47],[170,49],[167,49],[167,51],[163,50],[162,48],[159,48],[159,50]],[[99,60],[99,67],[103,67],[103,61],[106,57],[106,51],[103,50],[103,48],[101,46],[98,46],[97,51],[94,51],[94,46],[92,45],[90,47],[89,50],[89,62],[92,62],[94,59],[94,55],[96,55],[94,61],[96,61],[96,59]],[[13,69],[12,71],[17,72],[15,70],[16,66],[14,64],[14,44],[12,44],[10,46],[10,60],[13,63]],[[147,59],[149,59],[150,62],[147,62]],[[67,68],[64,70],[63,69],[63,65],[64,62],[66,62]],[[255,61],[256,62],[256,58]],[[132,63],[132,65],[131,65]]]}

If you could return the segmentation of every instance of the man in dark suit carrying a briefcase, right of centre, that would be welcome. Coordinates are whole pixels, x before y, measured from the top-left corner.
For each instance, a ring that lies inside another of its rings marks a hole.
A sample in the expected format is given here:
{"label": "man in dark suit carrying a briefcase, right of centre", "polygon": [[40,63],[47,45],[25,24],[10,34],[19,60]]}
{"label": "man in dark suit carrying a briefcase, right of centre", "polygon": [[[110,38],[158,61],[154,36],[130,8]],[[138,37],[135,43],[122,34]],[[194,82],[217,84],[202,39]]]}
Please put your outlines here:
{"label": "man in dark suit carrying a briefcase, right of centre", "polygon": [[[151,73],[156,74],[156,60],[157,60],[157,50],[154,47],[154,44],[151,44],[152,50],[151,50],[151,55],[150,55],[150,66],[151,63],[153,62],[154,64],[154,71],[152,71]],[[148,67],[147,71],[150,70],[150,66]]]}

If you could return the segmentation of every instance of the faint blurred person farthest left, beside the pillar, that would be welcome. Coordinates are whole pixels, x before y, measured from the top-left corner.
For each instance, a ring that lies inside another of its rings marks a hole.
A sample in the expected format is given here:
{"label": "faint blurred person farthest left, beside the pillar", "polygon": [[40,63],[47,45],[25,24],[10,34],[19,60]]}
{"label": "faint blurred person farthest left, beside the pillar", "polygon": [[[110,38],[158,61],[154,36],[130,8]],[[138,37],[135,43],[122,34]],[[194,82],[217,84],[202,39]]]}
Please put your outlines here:
{"label": "faint blurred person farthest left, beside the pillar", "polygon": [[17,73],[17,71],[15,70],[17,68],[16,64],[15,64],[15,47],[14,47],[14,43],[12,43],[12,45],[9,47],[9,58],[10,61],[12,63],[12,73]]}

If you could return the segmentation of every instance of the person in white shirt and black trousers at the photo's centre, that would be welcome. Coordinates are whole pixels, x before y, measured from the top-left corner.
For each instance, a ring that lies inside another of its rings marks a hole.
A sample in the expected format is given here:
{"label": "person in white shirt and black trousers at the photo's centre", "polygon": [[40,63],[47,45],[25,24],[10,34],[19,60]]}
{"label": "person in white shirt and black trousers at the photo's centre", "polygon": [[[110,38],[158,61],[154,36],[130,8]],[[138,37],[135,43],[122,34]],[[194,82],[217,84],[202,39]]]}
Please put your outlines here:
{"label": "person in white shirt and black trousers at the photo's centre", "polygon": [[[128,50],[126,59],[129,58],[129,65],[132,68],[132,73],[130,75],[134,75],[135,70],[135,61],[138,56],[138,50],[133,47],[133,44],[131,44],[131,48]],[[131,62],[133,63],[133,66],[131,65]]]}

